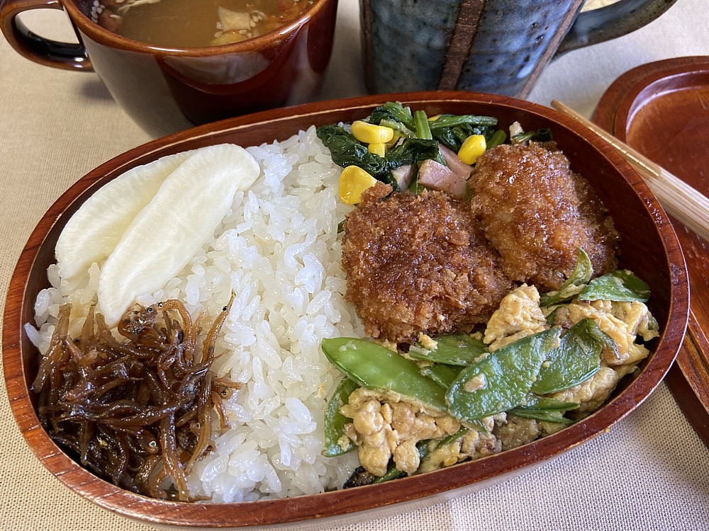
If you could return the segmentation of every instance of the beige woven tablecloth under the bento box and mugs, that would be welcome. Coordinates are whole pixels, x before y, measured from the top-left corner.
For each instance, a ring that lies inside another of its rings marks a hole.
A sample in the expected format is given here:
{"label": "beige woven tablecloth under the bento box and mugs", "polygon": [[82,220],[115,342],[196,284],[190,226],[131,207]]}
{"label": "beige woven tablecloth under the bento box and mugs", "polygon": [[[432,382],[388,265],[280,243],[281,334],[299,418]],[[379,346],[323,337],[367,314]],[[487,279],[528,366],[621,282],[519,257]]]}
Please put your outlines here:
{"label": "beige woven tablecloth under the bento box and mugs", "polygon": [[[57,11],[24,20],[42,35],[70,33]],[[364,93],[357,0],[340,0],[334,53],[320,98]],[[557,98],[591,115],[623,72],[683,55],[709,55],[707,0],[679,0],[631,35],[557,59],[530,99],[548,105]],[[94,74],[39,66],[0,38],[1,293],[52,202],[87,171],[148,139]],[[65,489],[25,444],[4,387],[0,395],[1,530],[153,528]],[[352,522],[337,529],[709,530],[709,449],[661,384],[609,433],[516,479],[429,508]]]}

